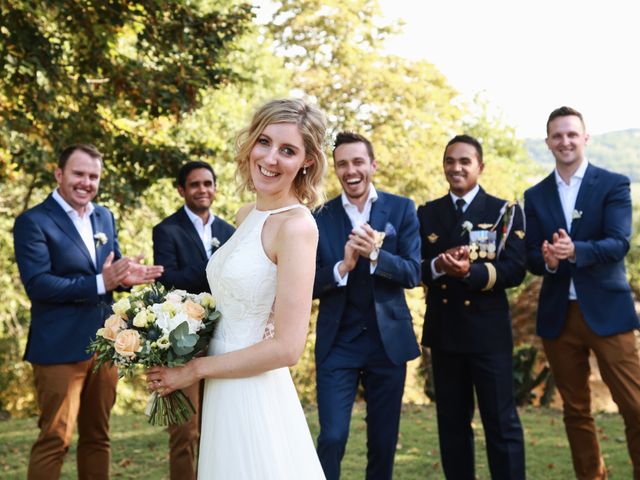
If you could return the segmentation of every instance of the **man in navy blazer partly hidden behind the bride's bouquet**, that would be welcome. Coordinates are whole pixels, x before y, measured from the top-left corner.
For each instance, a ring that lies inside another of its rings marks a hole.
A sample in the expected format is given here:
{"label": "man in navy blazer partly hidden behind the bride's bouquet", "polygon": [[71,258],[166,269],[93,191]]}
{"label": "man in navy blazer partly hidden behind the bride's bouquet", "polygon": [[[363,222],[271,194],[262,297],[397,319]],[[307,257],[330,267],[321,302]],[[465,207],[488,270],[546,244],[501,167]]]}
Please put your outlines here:
{"label": "man in navy blazer partly hidden behind the bride's bouquet", "polygon": [[[211,165],[201,161],[184,164],[178,172],[177,187],[184,206],[153,228],[154,261],[164,267],[159,282],[190,293],[208,292],[207,262],[235,229],[210,211],[216,195],[216,174]],[[169,427],[170,475],[172,480],[195,480],[200,383],[183,391],[196,414],[182,425]]]}

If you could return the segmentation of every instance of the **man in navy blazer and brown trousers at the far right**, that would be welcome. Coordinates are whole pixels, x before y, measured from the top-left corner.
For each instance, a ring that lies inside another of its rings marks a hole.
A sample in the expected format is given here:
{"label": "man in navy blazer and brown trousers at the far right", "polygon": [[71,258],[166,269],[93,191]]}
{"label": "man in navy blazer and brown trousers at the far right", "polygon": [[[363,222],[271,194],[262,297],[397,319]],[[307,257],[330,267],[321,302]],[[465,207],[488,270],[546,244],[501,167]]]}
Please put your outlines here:
{"label": "man in navy blazer and brown trousers at the far right", "polygon": [[640,325],[624,257],[631,237],[629,179],[589,163],[582,115],[560,107],[547,121],[556,168],[525,192],[527,264],[542,275],[537,333],[562,396],[578,478],[607,471],[591,415],[589,351],[624,418],[640,479]]}

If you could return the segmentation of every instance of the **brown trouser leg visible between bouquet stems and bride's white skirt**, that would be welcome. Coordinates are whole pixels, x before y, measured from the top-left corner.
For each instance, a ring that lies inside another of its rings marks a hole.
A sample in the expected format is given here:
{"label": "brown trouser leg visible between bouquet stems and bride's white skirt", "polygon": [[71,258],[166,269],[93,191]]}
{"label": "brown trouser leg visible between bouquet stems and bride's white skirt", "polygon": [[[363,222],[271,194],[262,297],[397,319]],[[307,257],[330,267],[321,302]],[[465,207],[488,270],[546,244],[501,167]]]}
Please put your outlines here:
{"label": "brown trouser leg visible between bouquet stems and bride's white skirt", "polygon": [[202,382],[194,383],[182,391],[196,409],[188,422],[173,425],[169,430],[169,472],[171,480],[196,479],[196,452],[200,441],[200,408]]}

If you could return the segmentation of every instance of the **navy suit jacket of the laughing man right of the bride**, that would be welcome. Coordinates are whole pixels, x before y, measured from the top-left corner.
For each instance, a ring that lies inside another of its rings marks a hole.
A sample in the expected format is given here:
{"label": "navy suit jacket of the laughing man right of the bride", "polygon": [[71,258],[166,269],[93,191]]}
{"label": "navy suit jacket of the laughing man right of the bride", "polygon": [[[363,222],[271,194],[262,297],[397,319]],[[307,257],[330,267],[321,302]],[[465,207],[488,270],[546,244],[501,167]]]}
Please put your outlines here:
{"label": "navy suit jacket of the laughing man right of the bride", "polygon": [[[320,238],[313,297],[320,299],[316,327],[316,363],[331,350],[346,304],[346,287],[338,287],[333,268],[344,258],[351,221],[340,196],[314,214]],[[369,224],[386,236],[373,274],[378,329],[389,359],[400,364],[420,354],[404,289],[420,282],[420,237],[412,200],[378,191]]]}

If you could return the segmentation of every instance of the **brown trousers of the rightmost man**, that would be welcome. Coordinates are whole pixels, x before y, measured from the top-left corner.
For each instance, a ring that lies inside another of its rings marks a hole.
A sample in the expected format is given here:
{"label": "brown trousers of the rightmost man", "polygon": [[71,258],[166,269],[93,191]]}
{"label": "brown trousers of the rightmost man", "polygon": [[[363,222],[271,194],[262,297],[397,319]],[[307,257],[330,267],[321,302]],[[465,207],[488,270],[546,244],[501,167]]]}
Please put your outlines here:
{"label": "brown trousers of the rightmost man", "polygon": [[576,477],[607,478],[591,415],[589,350],[593,350],[602,380],[624,419],[634,479],[640,480],[640,359],[633,332],[600,337],[584,321],[578,302],[571,301],[560,336],[542,341],[562,396]]}

